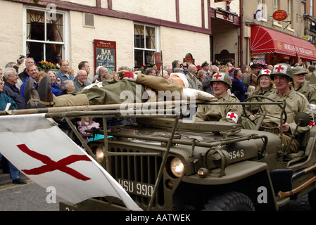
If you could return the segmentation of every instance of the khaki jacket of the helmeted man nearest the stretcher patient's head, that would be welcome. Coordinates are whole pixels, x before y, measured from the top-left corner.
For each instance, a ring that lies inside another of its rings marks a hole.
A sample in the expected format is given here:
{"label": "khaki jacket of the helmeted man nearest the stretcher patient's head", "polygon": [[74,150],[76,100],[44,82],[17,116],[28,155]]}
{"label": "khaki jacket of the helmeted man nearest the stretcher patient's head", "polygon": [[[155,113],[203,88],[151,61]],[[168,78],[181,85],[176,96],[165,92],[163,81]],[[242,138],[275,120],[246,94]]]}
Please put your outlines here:
{"label": "khaki jacket of the helmeted man nearest the stretcher patient's head", "polygon": [[[238,98],[225,94],[218,99],[219,103],[239,103]],[[198,105],[196,112],[196,121],[220,121],[234,122],[227,118],[227,113],[235,113],[238,119],[241,117],[241,105]]]}

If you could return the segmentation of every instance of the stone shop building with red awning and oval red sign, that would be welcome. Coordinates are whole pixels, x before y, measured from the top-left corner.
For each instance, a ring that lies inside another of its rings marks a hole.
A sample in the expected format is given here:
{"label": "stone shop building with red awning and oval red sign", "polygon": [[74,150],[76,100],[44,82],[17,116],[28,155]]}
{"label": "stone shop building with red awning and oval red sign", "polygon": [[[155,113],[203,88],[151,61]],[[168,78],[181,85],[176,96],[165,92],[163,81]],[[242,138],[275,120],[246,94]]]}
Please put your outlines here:
{"label": "stone shop building with red awning and oval red sign", "polygon": [[268,64],[316,61],[314,43],[305,38],[307,1],[243,1],[242,8],[245,62],[253,55]]}

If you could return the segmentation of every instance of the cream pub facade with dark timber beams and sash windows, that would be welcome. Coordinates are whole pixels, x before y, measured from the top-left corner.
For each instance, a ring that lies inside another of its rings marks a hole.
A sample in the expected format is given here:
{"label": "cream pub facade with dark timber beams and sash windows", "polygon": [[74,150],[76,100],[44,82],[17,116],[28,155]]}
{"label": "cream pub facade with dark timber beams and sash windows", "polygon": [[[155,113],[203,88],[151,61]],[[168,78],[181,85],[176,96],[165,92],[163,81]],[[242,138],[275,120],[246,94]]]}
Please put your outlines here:
{"label": "cream pub facade with dark timber beams and sash windows", "polygon": [[[35,61],[88,61],[120,66],[173,60],[241,58],[240,1],[217,0],[0,0],[0,68],[20,54]],[[22,70],[22,69],[20,69]]]}

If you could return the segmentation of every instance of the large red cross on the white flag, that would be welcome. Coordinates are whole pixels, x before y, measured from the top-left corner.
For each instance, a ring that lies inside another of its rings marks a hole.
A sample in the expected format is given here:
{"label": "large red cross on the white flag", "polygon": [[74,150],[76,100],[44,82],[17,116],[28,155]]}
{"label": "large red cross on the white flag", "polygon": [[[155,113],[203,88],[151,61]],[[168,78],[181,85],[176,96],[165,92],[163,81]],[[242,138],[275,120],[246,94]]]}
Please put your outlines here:
{"label": "large red cross on the white flag", "polygon": [[69,174],[70,176],[74,176],[75,178],[80,179],[82,181],[87,181],[90,179],[89,177],[80,174],[80,172],[75,171],[75,169],[67,167],[67,165],[70,165],[77,161],[91,161],[87,157],[87,155],[70,155],[66,158],[63,158],[62,160],[59,160],[58,162],[55,162],[46,155],[42,155],[37,152],[34,152],[33,150],[30,150],[29,148],[27,148],[27,146],[25,146],[25,144],[18,145],[18,148],[20,148],[20,150],[22,150],[23,153],[26,153],[27,155],[30,155],[32,158],[35,158],[46,164],[42,167],[37,167],[34,169],[22,169],[22,171],[25,172],[25,174],[39,175],[54,170],[60,170],[61,172]]}

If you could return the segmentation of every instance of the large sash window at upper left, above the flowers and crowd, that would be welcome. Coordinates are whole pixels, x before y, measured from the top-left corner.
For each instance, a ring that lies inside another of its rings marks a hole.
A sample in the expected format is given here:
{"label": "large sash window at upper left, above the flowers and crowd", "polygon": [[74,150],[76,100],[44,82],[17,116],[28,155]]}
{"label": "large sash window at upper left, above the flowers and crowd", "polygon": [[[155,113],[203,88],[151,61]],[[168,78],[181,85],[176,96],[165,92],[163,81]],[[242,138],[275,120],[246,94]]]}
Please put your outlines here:
{"label": "large sash window at upper left, above the flowers and crowd", "polygon": [[61,63],[64,49],[64,14],[26,9],[27,57]]}

